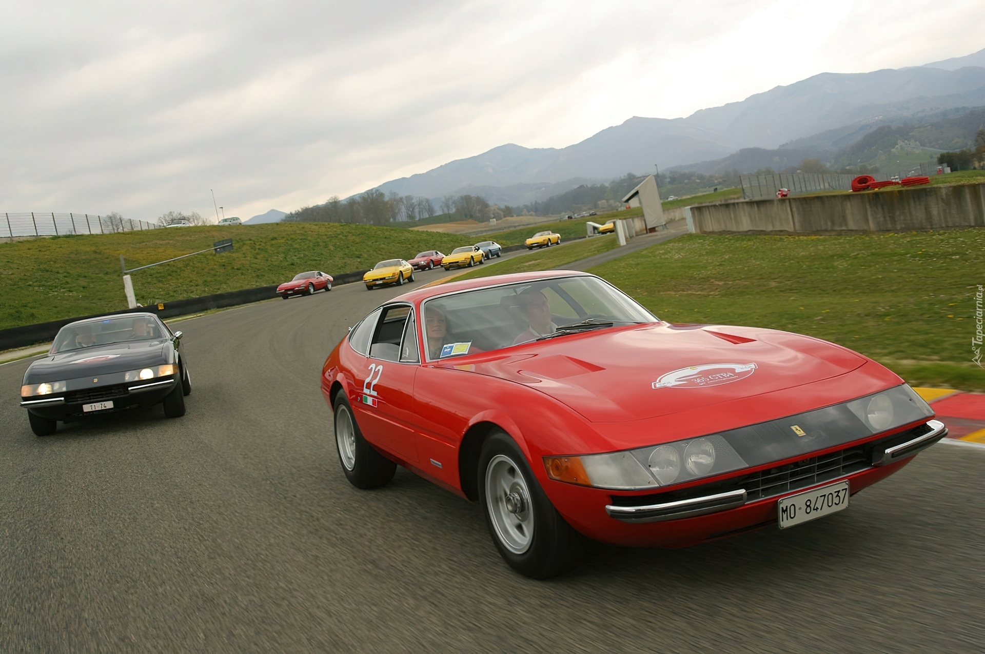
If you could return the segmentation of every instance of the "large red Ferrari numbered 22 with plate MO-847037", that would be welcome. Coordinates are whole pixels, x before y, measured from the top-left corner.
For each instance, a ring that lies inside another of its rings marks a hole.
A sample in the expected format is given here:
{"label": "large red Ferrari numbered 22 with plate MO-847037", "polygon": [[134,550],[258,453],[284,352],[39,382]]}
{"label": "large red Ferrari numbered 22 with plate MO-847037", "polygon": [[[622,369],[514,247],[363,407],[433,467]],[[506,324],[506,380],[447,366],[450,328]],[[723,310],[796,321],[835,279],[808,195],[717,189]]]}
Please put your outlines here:
{"label": "large red Ferrari numbered 22 with plate MO-847037", "polygon": [[583,536],[684,547],[829,515],[947,433],[850,350],[671,324],[569,271],[392,299],[332,351],[321,390],[352,484],[399,464],[478,501],[500,555],[537,578]]}

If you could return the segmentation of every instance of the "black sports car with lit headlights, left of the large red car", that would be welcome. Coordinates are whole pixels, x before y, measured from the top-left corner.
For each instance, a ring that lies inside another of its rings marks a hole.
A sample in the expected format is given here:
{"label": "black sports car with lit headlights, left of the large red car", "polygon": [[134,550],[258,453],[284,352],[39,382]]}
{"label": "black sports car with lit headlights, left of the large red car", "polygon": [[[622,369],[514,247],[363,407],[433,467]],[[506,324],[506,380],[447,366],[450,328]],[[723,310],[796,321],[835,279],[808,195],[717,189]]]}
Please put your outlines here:
{"label": "black sports car with lit headlights, left of the large red car", "polygon": [[21,406],[38,436],[58,421],[164,404],[168,418],[184,416],[191,376],[181,332],[153,313],[90,318],[65,325],[48,356],[24,373]]}

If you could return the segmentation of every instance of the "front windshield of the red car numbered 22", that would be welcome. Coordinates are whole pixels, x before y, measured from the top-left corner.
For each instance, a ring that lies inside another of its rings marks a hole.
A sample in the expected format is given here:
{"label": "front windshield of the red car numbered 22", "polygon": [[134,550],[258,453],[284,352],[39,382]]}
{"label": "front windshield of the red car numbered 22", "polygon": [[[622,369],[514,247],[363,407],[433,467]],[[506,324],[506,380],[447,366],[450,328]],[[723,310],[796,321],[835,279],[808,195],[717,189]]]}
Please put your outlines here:
{"label": "front windshield of the red car numbered 22", "polygon": [[560,277],[435,297],[424,303],[428,360],[490,352],[585,329],[657,322],[597,277]]}

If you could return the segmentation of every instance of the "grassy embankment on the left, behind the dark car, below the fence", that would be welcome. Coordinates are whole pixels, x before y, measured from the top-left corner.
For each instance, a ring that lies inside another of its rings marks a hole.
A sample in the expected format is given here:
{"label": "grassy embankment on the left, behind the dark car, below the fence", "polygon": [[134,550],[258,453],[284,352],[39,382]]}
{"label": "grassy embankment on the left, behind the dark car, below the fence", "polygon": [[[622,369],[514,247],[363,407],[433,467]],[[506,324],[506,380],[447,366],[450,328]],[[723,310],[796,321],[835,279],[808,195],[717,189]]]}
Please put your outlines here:
{"label": "grassy embankment on the left, behind the dark car, below the fence", "polygon": [[301,271],[339,274],[381,259],[445,252],[470,236],[333,223],[274,223],[54,236],[0,243],[0,329],[126,308],[119,255],[135,268],[232,238],[233,250],[206,252],[133,273],[137,301],[185,297],[286,282]]}

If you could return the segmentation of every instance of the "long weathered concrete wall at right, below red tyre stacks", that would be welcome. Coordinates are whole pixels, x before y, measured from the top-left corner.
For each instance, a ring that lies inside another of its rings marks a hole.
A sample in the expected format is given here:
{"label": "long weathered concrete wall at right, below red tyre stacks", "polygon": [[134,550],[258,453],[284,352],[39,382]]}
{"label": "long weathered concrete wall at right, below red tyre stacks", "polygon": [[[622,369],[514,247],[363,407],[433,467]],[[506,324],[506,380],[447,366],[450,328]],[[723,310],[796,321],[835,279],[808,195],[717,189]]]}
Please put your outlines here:
{"label": "long weathered concrete wall at right, below red tyre stacks", "polygon": [[851,233],[985,227],[985,184],[688,207],[694,233]]}

